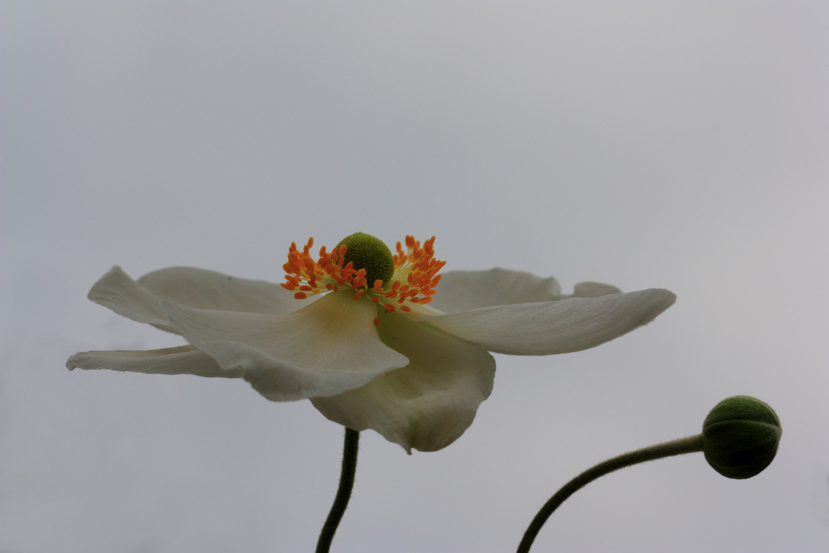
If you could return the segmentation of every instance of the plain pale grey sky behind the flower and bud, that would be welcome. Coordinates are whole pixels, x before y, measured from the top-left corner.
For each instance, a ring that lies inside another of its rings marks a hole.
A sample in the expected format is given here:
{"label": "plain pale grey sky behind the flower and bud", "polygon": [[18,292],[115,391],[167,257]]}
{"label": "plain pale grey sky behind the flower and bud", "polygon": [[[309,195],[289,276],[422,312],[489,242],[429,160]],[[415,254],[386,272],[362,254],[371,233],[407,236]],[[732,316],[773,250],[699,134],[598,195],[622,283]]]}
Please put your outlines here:
{"label": "plain pale grey sky behind the flower and bud", "polygon": [[827,2],[2,2],[3,553],[312,551],[342,428],[244,381],[66,371],[180,338],[113,264],[282,280],[292,240],[437,235],[447,269],[677,293],[496,356],[438,453],[363,433],[335,551],[513,551],[589,465],[768,401],[778,458],[566,502],[537,551],[829,550]]}

